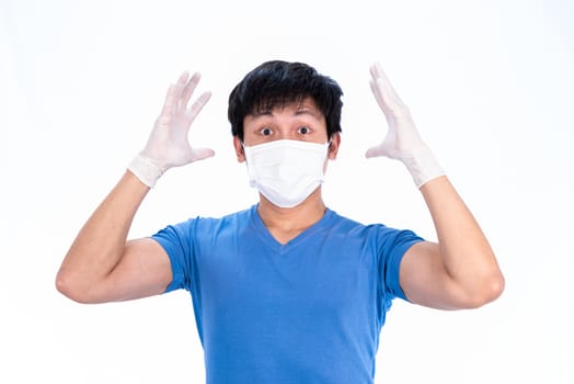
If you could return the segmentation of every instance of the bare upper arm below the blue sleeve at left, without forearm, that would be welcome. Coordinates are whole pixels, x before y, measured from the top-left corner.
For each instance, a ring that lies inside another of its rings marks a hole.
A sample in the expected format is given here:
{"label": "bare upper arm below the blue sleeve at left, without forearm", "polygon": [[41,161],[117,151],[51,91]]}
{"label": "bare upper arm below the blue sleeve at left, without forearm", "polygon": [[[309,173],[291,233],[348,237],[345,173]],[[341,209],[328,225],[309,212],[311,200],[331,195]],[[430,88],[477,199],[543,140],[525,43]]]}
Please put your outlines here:
{"label": "bare upper arm below the blue sleeve at left, without forearm", "polygon": [[151,238],[129,240],[117,266],[100,284],[100,302],[117,302],[165,292],[172,281],[170,258]]}

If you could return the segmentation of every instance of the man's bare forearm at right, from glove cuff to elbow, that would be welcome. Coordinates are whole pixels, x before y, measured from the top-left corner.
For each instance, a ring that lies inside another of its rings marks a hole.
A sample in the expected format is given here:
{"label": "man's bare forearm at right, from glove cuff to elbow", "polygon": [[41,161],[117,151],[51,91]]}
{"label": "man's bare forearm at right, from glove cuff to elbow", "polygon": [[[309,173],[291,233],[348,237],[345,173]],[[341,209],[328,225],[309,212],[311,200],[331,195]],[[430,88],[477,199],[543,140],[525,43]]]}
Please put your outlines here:
{"label": "man's bare forearm at right, from glove cuff to elbow", "polygon": [[496,258],[479,224],[447,179],[421,187],[435,224],[438,248],[450,279],[471,301],[491,301],[504,284]]}

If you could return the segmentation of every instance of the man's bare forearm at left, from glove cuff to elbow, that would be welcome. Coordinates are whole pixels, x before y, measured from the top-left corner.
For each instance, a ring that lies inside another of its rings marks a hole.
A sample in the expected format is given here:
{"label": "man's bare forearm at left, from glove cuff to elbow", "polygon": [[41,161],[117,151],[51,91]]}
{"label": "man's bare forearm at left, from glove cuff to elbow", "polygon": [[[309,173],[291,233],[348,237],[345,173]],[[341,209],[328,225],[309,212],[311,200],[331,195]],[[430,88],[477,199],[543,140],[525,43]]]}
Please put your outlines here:
{"label": "man's bare forearm at left, from glove cuff to elbow", "polygon": [[69,296],[87,295],[119,262],[134,216],[149,191],[126,171],[71,245],[57,276]]}

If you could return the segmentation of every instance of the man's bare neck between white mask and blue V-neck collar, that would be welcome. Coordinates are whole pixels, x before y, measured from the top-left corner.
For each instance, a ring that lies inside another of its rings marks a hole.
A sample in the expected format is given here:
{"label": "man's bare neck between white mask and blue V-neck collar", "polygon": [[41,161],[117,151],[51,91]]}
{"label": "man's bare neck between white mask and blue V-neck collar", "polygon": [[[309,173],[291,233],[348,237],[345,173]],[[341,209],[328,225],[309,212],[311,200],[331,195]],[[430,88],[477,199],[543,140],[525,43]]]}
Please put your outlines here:
{"label": "man's bare neck between white mask and blue V-neck collar", "polygon": [[323,217],[326,206],[318,188],[301,204],[282,208],[260,195],[257,213],[271,234],[285,244]]}

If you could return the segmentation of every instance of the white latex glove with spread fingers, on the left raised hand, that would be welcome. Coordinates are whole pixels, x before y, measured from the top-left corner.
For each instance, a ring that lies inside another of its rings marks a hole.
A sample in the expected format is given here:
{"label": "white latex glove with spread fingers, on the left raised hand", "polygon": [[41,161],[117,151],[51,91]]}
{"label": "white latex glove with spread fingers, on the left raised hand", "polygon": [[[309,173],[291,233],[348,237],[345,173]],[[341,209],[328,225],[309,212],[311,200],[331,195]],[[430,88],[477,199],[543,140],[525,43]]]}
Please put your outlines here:
{"label": "white latex glove with spread fingers, on the left raised hand", "polygon": [[128,166],[150,188],[168,169],[215,155],[209,148],[193,148],[187,138],[192,122],[211,97],[210,92],[204,92],[187,106],[199,78],[196,72],[190,79],[190,74],[184,71],[177,82],[170,86],[146,148]]}

